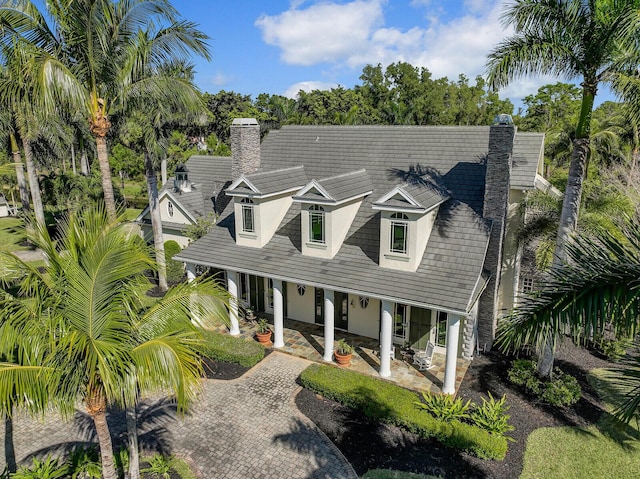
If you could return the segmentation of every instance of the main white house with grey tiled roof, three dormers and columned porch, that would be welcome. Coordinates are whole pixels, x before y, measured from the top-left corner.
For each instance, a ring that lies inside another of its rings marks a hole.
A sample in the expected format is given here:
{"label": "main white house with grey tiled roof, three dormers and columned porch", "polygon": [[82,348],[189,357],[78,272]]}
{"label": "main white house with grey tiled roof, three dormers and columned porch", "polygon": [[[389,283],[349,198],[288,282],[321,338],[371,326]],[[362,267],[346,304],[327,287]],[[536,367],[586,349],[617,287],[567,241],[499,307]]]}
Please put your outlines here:
{"label": "main white house with grey tiled roof, three dormers and columned porch", "polygon": [[[510,118],[508,118],[510,120]],[[487,127],[285,126],[260,144],[253,119],[231,127],[231,199],[211,231],[176,255],[224,272],[239,309],[379,338],[428,341],[456,359],[490,348],[519,288],[517,205],[542,171],[542,134]],[[390,355],[379,374],[389,376]]]}

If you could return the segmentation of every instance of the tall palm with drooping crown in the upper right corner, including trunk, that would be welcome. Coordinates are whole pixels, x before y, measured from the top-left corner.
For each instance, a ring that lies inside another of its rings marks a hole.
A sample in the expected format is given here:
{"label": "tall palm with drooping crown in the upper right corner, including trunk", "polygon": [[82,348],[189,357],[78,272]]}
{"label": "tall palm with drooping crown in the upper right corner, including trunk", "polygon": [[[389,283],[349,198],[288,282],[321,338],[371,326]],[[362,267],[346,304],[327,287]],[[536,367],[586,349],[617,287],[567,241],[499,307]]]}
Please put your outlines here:
{"label": "tall palm with drooping crown in the upper right corner, including trunk", "polygon": [[[504,14],[515,34],[499,43],[487,61],[494,88],[528,75],[579,79],[582,87],[569,179],[565,190],[554,263],[567,260],[570,235],[578,220],[589,152],[591,113],[598,88],[640,64],[636,39],[640,11],[630,0],[516,0]],[[553,350],[546,345],[538,372],[549,377]]]}

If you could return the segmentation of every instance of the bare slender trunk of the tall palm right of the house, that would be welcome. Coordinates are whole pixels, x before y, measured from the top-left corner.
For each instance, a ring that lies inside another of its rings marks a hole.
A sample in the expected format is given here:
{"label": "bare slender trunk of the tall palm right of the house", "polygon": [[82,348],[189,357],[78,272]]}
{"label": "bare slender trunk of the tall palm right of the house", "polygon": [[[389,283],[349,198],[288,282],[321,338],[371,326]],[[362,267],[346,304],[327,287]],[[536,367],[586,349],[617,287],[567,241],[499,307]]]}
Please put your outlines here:
{"label": "bare slender trunk of the tall palm right of the house", "polygon": [[[553,267],[566,263],[567,244],[571,241],[571,235],[578,225],[580,212],[580,200],[582,198],[582,184],[587,173],[587,160],[589,157],[589,140],[591,133],[591,114],[593,102],[596,96],[595,82],[584,81],[582,84],[582,104],[580,118],[576,127],[576,139],[573,141],[571,164],[569,165],[569,178],[564,192],[560,224],[556,235],[556,248],[553,255]],[[556,334],[562,331],[555,331]],[[538,359],[538,375],[543,378],[551,378],[553,373],[553,361],[555,356],[554,340],[550,336],[540,352]]]}

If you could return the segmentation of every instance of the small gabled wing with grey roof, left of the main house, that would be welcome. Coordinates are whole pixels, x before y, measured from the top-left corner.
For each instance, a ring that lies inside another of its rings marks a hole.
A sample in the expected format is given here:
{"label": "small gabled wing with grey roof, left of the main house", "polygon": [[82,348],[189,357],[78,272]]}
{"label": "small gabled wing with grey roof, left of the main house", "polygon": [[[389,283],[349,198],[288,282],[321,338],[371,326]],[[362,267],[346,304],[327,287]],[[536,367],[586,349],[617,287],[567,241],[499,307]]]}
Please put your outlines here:
{"label": "small gabled wing with grey roof, left of the main house", "polygon": [[[181,247],[189,244],[189,225],[208,215],[219,214],[228,199],[224,188],[231,179],[231,157],[194,155],[176,167],[175,175],[158,192],[158,207],[165,241]],[[151,214],[147,206],[136,218],[143,238],[153,241]]]}

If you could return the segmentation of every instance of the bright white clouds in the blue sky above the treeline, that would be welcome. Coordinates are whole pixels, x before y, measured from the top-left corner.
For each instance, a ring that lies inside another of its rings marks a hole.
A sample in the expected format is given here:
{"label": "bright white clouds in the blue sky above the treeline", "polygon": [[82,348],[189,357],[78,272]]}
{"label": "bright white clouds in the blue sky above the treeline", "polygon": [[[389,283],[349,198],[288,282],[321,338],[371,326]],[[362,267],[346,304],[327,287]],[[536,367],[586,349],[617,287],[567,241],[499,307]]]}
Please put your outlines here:
{"label": "bright white clouds in the blue sky above the treeline", "polygon": [[[291,65],[329,63],[334,70],[361,70],[366,64],[404,61],[426,67],[434,78],[456,80],[464,73],[471,81],[484,75],[487,54],[511,31],[500,22],[501,0],[464,0],[456,18],[443,20],[440,2],[413,0],[420,10],[415,26],[385,26],[384,0],[354,0],[349,3],[321,2],[307,8],[297,2],[279,15],[263,15],[256,21],[266,43],[281,49],[281,58]],[[450,7],[455,8],[455,7]],[[554,79],[513,82],[501,96],[535,93]]]}

